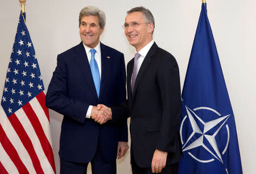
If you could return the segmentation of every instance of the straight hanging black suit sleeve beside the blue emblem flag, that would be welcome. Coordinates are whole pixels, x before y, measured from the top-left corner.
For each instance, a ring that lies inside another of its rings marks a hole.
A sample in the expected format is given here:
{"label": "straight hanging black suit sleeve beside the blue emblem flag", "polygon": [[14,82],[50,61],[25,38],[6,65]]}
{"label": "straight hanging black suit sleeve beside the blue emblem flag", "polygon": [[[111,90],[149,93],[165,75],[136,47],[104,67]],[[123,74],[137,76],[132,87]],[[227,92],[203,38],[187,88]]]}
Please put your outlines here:
{"label": "straight hanging black suit sleeve beside the blue emblem flag", "polygon": [[162,100],[162,120],[156,148],[173,152],[179,129],[181,97],[179,67],[171,55],[160,60],[157,81]]}

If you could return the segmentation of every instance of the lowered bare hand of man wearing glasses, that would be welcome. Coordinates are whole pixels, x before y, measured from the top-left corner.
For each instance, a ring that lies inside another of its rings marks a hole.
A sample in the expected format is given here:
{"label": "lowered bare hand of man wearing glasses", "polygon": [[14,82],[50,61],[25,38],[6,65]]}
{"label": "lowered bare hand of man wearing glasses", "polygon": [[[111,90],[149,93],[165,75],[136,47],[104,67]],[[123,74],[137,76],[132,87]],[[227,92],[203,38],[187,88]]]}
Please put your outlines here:
{"label": "lowered bare hand of man wearing glasses", "polygon": [[166,167],[166,159],[167,159],[167,152],[156,149],[152,158],[152,163],[151,163],[152,173],[162,172],[162,169]]}

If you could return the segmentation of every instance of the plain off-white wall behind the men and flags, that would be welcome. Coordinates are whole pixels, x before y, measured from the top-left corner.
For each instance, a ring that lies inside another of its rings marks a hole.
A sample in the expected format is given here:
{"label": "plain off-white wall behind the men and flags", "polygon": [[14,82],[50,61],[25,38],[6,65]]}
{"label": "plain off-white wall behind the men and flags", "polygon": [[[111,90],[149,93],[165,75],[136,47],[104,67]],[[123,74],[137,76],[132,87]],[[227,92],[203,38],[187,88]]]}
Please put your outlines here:
{"label": "plain off-white wall behind the men and flags", "polygon": [[[126,11],[145,6],[155,18],[154,40],[176,57],[180,68],[181,87],[193,38],[201,11],[201,0],[148,1],[148,0],[27,0],[27,27],[38,57],[44,87],[47,90],[56,67],[57,54],[80,42],[78,16],[80,10],[93,5],[106,13],[106,27],[101,42],[125,54],[126,64],[134,55],[127,42],[122,24]],[[254,0],[208,0],[208,18],[212,26],[226,86],[232,103],[244,173],[255,173],[256,155],[256,2]],[[20,13],[18,0],[0,1],[0,93],[5,83],[11,48]],[[49,110],[53,153],[59,173],[59,137],[63,116]],[[117,160],[117,173],[128,174],[130,151]],[[90,173],[90,172],[88,172]]]}

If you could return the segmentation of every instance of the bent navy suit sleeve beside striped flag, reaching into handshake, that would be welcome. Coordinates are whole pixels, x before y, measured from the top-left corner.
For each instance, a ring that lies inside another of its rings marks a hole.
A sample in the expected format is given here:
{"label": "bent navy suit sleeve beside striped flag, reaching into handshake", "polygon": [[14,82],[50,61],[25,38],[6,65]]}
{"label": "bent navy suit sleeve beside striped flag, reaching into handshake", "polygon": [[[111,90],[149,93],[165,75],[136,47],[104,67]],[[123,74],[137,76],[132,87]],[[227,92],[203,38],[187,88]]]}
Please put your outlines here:
{"label": "bent navy suit sleeve beside striped flag, reaching into handshake", "polygon": [[[46,94],[46,106],[78,122],[85,121],[85,115],[89,105],[79,100],[73,100],[67,96],[68,76],[67,63],[64,57],[57,56],[57,67]],[[74,77],[76,78],[76,77]]]}

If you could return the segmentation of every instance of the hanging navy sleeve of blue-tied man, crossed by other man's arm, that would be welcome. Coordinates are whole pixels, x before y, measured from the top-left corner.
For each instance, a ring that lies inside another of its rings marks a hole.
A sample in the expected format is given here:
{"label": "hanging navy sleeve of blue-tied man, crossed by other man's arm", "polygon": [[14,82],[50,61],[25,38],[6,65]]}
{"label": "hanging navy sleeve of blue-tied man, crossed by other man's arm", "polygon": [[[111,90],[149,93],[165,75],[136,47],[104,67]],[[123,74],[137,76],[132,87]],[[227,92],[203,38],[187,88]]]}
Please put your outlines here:
{"label": "hanging navy sleeve of blue-tied man, crossed by other man's arm", "polygon": [[[119,95],[118,95],[118,103],[124,102],[126,100],[126,72],[125,72],[125,58],[122,54],[120,63],[120,73],[119,73]],[[128,129],[127,129],[127,117],[123,119],[119,123],[119,137],[118,141],[128,142]]]}

